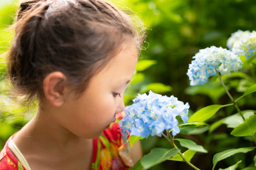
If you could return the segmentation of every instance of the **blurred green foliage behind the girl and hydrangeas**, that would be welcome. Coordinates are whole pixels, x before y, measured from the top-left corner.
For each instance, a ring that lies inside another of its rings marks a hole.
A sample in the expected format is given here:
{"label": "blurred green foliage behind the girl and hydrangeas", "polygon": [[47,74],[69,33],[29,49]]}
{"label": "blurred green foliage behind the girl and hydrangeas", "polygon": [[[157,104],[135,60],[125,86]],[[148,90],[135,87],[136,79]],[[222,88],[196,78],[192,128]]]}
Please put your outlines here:
{"label": "blurred green foliage behind the girl and hydrangeas", "polygon": [[[125,104],[130,105],[131,99],[138,93],[147,93],[151,89],[163,95],[174,95],[180,101],[190,104],[189,115],[212,104],[231,103],[215,76],[204,86],[190,86],[186,75],[188,64],[200,49],[216,46],[226,47],[226,41],[231,33],[240,30],[256,30],[256,1],[255,0],[118,0],[119,3],[133,9],[140,16],[148,28],[148,38],[142,52],[143,59],[138,62],[137,73],[126,90]],[[5,28],[12,24],[15,10],[14,1],[0,0],[0,51],[4,52],[11,41],[12,33]],[[2,58],[3,59],[3,58]],[[3,59],[4,60],[4,59]],[[4,61],[0,60],[0,74],[5,72]],[[243,69],[248,75],[253,75],[255,69]],[[1,76],[0,76],[1,77]],[[4,93],[3,78],[0,78],[0,94]],[[227,82],[227,89],[236,99],[252,85],[246,78],[231,78]],[[249,98],[249,99],[248,99]],[[256,110],[255,94],[249,95],[247,100],[238,103],[241,110]],[[3,97],[2,106],[7,106]],[[245,106],[246,104],[246,106]],[[1,107],[1,106],[0,106]],[[19,114],[21,110],[17,110]],[[232,106],[220,110],[208,124],[212,124],[225,116],[236,113]],[[5,141],[18,131],[31,116],[18,116],[0,112],[0,150]],[[253,145],[246,137],[230,136],[231,128],[220,126],[213,132],[208,132],[209,126],[199,128],[191,135],[177,135],[203,145],[209,150],[208,154],[196,153],[191,163],[202,170],[212,168],[214,154],[231,148]],[[202,133],[203,132],[203,133]],[[198,134],[200,133],[200,134]],[[178,145],[178,143],[177,143]],[[153,147],[172,148],[167,140],[159,137],[149,137],[142,140],[144,154]],[[179,145],[178,145],[179,146]],[[186,149],[182,149],[184,152]],[[239,164],[242,169],[252,162],[251,153],[236,154],[217,164],[225,168],[243,160]],[[239,169],[238,168],[238,169]],[[166,161],[151,170],[191,169],[184,162]]]}

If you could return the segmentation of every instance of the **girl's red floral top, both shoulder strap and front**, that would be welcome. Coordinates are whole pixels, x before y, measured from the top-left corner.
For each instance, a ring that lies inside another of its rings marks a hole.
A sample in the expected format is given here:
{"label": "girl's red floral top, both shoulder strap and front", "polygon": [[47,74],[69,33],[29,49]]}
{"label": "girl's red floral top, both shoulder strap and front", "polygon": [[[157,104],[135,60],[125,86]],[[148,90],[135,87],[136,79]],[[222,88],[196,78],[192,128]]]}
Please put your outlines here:
{"label": "girl's red floral top, both shoulder strap and front", "polygon": [[[123,144],[121,139],[119,120],[123,117],[123,112],[116,115],[117,121],[110,124],[102,135],[93,139],[93,161],[92,170],[128,170],[133,166],[131,160],[130,145]],[[15,135],[15,134],[14,134]],[[6,142],[4,149],[0,152],[0,170],[27,170],[10,151]]]}

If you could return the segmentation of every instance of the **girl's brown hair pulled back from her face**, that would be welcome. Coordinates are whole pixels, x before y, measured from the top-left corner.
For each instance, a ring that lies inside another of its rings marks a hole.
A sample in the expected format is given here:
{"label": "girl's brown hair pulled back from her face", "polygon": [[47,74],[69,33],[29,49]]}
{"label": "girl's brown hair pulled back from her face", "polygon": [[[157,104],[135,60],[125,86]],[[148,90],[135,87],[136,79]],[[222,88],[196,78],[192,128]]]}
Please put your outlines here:
{"label": "girl's brown hair pulled back from her face", "polygon": [[64,73],[67,85],[81,93],[121,44],[133,42],[139,54],[145,27],[134,16],[103,0],[21,3],[7,57],[13,94],[23,96],[23,106],[33,106],[44,97],[45,76],[54,71]]}

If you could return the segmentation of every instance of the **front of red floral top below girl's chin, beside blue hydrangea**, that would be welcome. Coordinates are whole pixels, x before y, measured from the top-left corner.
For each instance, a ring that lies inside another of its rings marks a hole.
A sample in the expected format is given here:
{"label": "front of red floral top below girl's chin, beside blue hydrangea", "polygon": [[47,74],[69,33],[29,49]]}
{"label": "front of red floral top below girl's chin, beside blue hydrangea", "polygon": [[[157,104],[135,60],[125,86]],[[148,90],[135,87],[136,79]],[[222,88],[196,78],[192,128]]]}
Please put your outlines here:
{"label": "front of red floral top below girl's chin, beside blue hydrangea", "polygon": [[124,112],[116,114],[117,120],[94,139],[92,170],[128,170],[133,166],[130,145],[123,144],[118,125],[123,116]]}

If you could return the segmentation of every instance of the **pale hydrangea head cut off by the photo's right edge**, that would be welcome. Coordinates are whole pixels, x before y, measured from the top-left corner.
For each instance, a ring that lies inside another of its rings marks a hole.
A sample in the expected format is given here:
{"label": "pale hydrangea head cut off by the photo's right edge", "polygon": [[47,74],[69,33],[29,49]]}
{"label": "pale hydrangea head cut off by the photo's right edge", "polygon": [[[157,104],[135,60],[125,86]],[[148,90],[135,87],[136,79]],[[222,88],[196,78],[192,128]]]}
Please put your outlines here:
{"label": "pale hydrangea head cut off by the photo's right edge", "polygon": [[244,55],[246,59],[256,55],[256,31],[241,31],[238,30],[231,34],[227,40],[227,47],[238,55]]}

